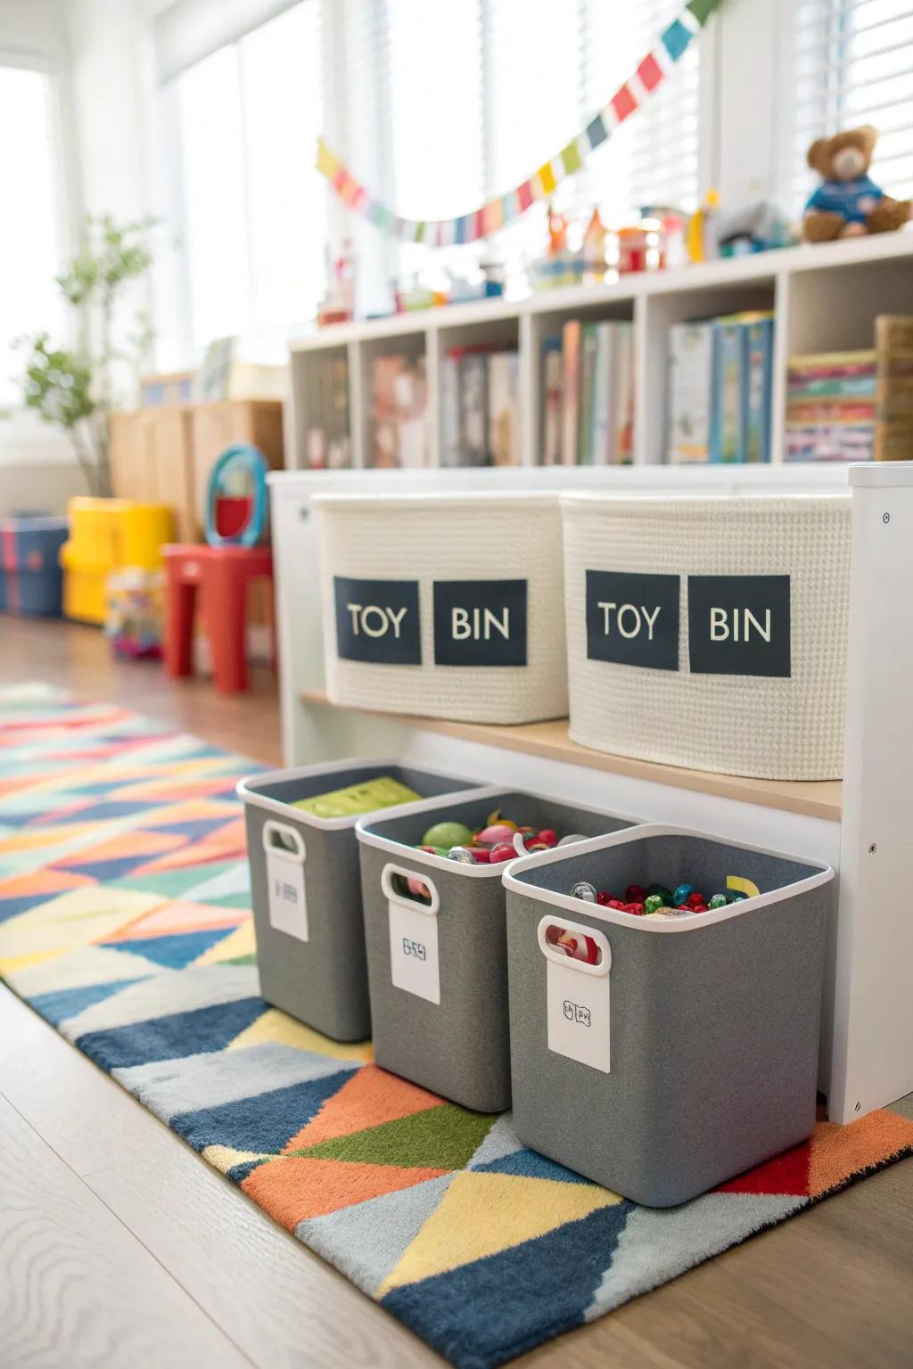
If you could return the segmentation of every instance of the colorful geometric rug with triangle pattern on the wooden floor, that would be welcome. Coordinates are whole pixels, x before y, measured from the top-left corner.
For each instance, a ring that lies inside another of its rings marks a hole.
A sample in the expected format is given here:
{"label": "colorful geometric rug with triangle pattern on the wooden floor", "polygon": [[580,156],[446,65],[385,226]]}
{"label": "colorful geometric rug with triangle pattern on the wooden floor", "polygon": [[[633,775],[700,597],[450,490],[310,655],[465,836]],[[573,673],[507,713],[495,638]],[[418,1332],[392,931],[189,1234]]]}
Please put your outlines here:
{"label": "colorful geometric rug with triangle pattern on the wooden floor", "polygon": [[460,1369],[601,1317],[913,1151],[820,1123],[682,1207],[638,1207],[257,995],[256,768],[119,708],[0,691],[0,973],[271,1217]]}

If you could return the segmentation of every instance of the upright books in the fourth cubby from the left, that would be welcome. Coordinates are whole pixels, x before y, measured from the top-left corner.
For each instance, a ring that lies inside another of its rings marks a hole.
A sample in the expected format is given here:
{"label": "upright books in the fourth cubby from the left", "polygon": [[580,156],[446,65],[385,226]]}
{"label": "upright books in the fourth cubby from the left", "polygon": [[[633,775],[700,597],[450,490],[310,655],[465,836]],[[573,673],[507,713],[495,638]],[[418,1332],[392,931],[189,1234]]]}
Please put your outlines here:
{"label": "upright books in the fourth cubby from the left", "polygon": [[634,460],[634,329],[569,319],[545,340],[542,464]]}

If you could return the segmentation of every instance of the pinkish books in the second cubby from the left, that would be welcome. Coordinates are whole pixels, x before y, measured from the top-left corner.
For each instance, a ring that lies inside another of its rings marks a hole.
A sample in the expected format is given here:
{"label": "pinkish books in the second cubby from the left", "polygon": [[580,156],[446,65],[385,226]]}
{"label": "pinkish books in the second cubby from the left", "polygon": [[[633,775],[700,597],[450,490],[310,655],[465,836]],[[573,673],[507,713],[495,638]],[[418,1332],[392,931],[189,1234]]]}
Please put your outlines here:
{"label": "pinkish books in the second cubby from the left", "polygon": [[428,464],[427,398],[423,356],[374,357],[370,465],[415,471]]}

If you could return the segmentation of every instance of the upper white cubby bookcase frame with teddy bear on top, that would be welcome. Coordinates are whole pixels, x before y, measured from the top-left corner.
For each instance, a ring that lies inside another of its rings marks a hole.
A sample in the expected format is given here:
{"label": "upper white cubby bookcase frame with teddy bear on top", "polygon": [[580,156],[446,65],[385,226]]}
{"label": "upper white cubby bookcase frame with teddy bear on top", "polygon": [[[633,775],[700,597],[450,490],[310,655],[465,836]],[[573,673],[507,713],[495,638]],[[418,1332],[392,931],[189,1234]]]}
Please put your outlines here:
{"label": "upper white cubby bookcase frame with teddy bear on top", "polygon": [[430,465],[437,468],[443,357],[454,346],[491,342],[519,349],[522,464],[538,465],[542,342],[567,319],[634,322],[634,461],[641,467],[661,464],[669,324],[756,308],[772,308],[775,314],[772,453],[773,463],[779,463],[788,357],[871,346],[877,314],[913,312],[913,230],[626,275],[600,286],[550,290],[513,303],[486,300],[323,329],[290,348],[286,465],[307,467],[307,394],[312,393],[308,368],[329,353],[338,356],[345,350],[353,467],[363,470],[368,464],[371,360],[383,353],[424,353]]}

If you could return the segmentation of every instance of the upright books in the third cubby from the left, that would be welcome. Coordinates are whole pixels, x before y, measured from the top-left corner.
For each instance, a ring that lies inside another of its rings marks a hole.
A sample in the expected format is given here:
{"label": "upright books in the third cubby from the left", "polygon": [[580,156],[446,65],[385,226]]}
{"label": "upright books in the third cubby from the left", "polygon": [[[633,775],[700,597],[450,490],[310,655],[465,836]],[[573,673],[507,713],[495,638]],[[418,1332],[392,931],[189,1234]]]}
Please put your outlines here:
{"label": "upright books in the third cubby from the left", "polygon": [[519,357],[453,348],[441,367],[441,465],[519,465]]}

